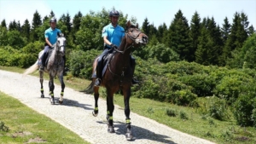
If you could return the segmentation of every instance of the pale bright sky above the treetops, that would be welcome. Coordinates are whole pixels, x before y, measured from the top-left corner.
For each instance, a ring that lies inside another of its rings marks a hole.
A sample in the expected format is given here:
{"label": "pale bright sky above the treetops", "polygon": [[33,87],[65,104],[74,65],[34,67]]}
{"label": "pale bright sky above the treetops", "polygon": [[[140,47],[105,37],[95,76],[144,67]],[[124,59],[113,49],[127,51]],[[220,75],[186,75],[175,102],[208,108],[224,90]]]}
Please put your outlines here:
{"label": "pale bright sky above the treetops", "polygon": [[236,12],[247,14],[249,26],[256,29],[256,0],[0,0],[0,22],[20,20],[20,25],[27,19],[32,24],[33,14],[38,13],[44,18],[52,10],[59,19],[62,14],[69,14],[73,19],[79,11],[85,15],[90,11],[100,12],[102,9],[115,8],[137,18],[139,26],[147,18],[149,24],[158,26],[166,23],[170,26],[175,14],[180,9],[189,21],[195,11],[203,18],[214,18],[217,25],[224,24],[227,17],[230,24]]}

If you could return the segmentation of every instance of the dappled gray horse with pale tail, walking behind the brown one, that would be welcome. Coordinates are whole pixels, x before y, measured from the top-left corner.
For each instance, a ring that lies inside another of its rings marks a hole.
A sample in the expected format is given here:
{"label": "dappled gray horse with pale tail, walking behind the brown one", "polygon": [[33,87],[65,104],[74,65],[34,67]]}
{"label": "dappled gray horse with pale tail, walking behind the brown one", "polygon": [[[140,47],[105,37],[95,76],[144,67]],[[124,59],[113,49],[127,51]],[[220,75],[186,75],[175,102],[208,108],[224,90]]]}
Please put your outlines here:
{"label": "dappled gray horse with pale tail, walking behind the brown one", "polygon": [[[51,104],[55,104],[54,99],[54,78],[55,76],[58,76],[60,83],[61,83],[61,97],[59,99],[59,103],[62,104],[63,102],[63,95],[64,95],[64,89],[65,84],[63,81],[63,72],[64,72],[64,60],[63,56],[65,55],[65,45],[66,45],[66,37],[61,33],[58,33],[57,42],[54,44],[54,49],[49,49],[49,56],[48,56],[48,63],[47,66],[44,67],[44,71],[40,72],[40,84],[41,84],[41,97],[44,98],[44,72],[49,73],[49,101]],[[38,54],[38,60],[43,55],[44,50],[42,50]],[[34,65],[30,66],[28,69],[26,69],[26,72],[24,72],[24,75],[30,74],[32,72],[35,72],[38,70],[38,60],[35,62]]]}

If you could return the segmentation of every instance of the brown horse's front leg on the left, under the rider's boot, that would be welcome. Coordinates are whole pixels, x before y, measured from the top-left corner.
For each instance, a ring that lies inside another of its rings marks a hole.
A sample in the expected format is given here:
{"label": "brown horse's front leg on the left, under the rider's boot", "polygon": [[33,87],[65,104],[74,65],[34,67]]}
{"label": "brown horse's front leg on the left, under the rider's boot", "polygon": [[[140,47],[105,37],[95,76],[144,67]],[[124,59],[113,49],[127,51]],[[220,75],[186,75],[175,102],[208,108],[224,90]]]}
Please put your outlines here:
{"label": "brown horse's front leg on the left, under the rider's boot", "polygon": [[108,109],[108,132],[109,133],[114,133],[114,129],[113,129],[113,110],[114,110],[114,106],[113,106],[113,92],[111,90],[107,89],[107,109]]}

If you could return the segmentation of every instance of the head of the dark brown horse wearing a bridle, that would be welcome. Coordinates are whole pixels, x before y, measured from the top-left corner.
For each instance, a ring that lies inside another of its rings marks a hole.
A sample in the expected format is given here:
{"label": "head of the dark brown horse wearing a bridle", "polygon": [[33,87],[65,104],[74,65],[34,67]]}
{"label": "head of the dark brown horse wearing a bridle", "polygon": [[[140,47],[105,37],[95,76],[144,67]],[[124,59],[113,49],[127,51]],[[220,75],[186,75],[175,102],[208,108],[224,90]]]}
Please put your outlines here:
{"label": "head of the dark brown horse wearing a bridle", "polygon": [[140,45],[146,45],[148,43],[148,36],[138,29],[138,25],[131,25],[130,20],[126,23],[126,30],[127,36],[130,37],[128,38],[130,40],[127,39],[126,43],[131,43],[135,47]]}

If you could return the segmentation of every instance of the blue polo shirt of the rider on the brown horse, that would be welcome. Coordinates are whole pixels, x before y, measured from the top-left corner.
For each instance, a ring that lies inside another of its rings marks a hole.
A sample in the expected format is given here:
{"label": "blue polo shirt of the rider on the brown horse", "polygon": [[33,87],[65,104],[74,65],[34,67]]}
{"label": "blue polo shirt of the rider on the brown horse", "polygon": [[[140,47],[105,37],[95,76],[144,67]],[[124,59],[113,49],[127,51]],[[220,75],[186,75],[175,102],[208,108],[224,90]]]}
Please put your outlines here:
{"label": "blue polo shirt of the rider on the brown horse", "polygon": [[[119,47],[120,43],[122,42],[122,38],[125,37],[125,29],[119,25],[113,27],[110,23],[102,30],[102,37],[104,36],[107,36],[107,39],[110,43],[113,43]],[[110,46],[108,45],[108,47]]]}

